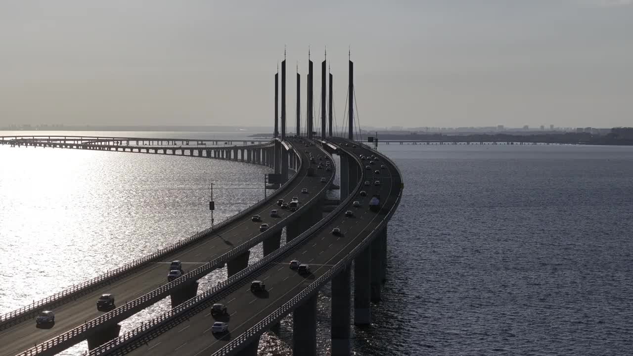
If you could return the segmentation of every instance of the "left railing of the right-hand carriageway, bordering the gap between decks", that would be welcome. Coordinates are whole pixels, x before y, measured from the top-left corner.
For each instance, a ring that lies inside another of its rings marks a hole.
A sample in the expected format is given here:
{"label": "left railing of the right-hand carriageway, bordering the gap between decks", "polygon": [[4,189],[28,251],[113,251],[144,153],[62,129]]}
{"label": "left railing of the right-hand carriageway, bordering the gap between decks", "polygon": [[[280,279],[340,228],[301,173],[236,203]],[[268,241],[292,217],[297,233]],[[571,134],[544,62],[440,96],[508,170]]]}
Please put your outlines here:
{"label": "left railing of the right-hand carriageway, bordering the gap between decks", "polygon": [[[333,168],[335,169],[335,167]],[[330,183],[334,179],[334,175],[335,175],[334,173],[335,173],[335,170],[332,172],[332,175],[330,175]],[[363,172],[363,176],[364,174],[365,173]],[[360,190],[361,182],[362,180],[358,182],[358,185],[356,186],[354,192],[357,192],[358,190]],[[316,197],[314,197],[313,199],[315,198]],[[262,269],[263,267],[270,267],[271,266],[270,262],[273,262],[274,260],[277,260],[280,257],[284,257],[285,255],[291,253],[296,248],[298,248],[301,244],[304,243],[306,239],[310,238],[314,232],[322,229],[324,226],[326,226],[330,222],[331,219],[333,219],[338,213],[340,213],[343,208],[346,208],[346,205],[349,204],[352,198],[354,198],[354,194],[350,194],[348,198],[346,198],[344,203],[339,205],[339,207],[337,207],[334,210],[334,212],[327,215],[327,217],[319,220],[316,224],[311,226],[310,229],[304,231],[301,235],[292,239],[289,243],[286,243],[284,246],[275,250],[270,255],[262,258],[261,260],[249,266],[248,268],[243,269],[240,272],[237,272],[237,274],[229,277],[229,279],[218,283],[216,286],[212,287],[211,289],[202,293],[201,295],[198,295],[195,298],[192,298],[188,300],[187,302],[182,303],[181,305],[173,308],[172,310],[165,312],[164,314],[161,314],[158,317],[155,317],[151,321],[142,324],[136,329],[128,331],[122,336],[119,336],[118,338],[112,341],[109,341],[108,343],[105,343],[104,345],[94,348],[93,350],[91,350],[91,352],[89,352],[89,355],[96,356],[96,355],[103,355],[104,353],[116,352],[116,350],[121,348],[122,346],[128,345],[129,343],[132,343],[135,340],[142,338],[145,334],[149,333],[150,331],[153,331],[154,329],[158,329],[160,327],[163,327],[165,324],[168,324],[169,322],[173,322],[175,319],[186,314],[187,312],[191,312],[194,309],[199,309],[204,304],[215,302],[216,300],[222,299],[223,296],[231,293],[235,289],[235,285],[241,283],[244,280],[249,280],[249,277],[253,276],[253,274],[259,273],[260,269]],[[30,353],[25,353],[25,355],[30,355]]]}

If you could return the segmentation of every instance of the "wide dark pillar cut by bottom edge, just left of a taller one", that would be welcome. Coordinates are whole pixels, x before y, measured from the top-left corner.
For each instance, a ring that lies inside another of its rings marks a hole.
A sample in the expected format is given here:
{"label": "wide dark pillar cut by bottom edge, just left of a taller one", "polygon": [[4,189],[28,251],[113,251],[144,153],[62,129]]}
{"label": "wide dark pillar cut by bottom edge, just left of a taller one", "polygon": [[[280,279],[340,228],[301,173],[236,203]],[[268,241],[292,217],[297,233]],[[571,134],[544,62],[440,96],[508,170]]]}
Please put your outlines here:
{"label": "wide dark pillar cut by bottom edge, just left of a taller one", "polygon": [[316,297],[311,296],[292,313],[292,355],[316,356]]}

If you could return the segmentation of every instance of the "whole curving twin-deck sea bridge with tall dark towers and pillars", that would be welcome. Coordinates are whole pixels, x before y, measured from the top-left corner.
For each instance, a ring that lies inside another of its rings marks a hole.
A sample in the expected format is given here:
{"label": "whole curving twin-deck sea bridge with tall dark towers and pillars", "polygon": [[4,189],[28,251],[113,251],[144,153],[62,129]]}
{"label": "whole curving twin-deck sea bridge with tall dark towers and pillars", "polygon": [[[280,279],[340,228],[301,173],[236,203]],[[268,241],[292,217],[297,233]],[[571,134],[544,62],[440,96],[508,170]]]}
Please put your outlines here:
{"label": "whole curving twin-deck sea bridge with tall dark towers and pillars", "polygon": [[[311,61],[309,63],[308,98],[311,98],[312,65]],[[353,98],[351,61],[349,68],[349,95]],[[277,79],[275,75],[275,83]],[[330,98],[331,88],[330,85]],[[322,86],[322,96],[324,92],[325,86]],[[202,143],[209,141],[214,144],[229,141],[1,137],[1,144],[9,144],[16,149],[42,146],[235,160],[266,165],[281,178],[279,188],[268,198],[217,226],[91,281],[2,315],[0,355],[54,355],[83,340],[88,341],[90,355],[149,352],[166,355],[256,355],[261,334],[291,313],[294,354],[315,355],[316,295],[330,281],[332,355],[349,355],[350,276],[353,271],[353,322],[357,325],[369,324],[370,303],[380,300],[386,279],[387,222],[401,199],[403,178],[387,156],[353,141],[351,104],[348,137],[332,135],[332,115],[329,118],[330,131],[326,130],[325,108],[322,108],[321,135],[316,136],[312,130],[315,120],[311,115],[310,101],[306,134],[287,137],[284,96],[285,60],[282,62],[281,135],[277,132],[279,123],[275,115],[275,139],[260,144],[204,148]],[[275,100],[276,113],[277,105]],[[299,120],[296,132],[301,132]],[[183,147],[187,146],[184,142],[189,142],[188,148]],[[311,159],[311,155],[320,158]],[[323,213],[325,193],[332,186],[336,168],[332,164],[332,169],[327,170],[320,168],[318,163],[333,162],[332,155],[340,157],[341,200],[334,210]],[[375,159],[370,161],[360,158],[361,155],[374,155]],[[380,196],[377,211],[368,209],[368,201],[374,195]],[[294,196],[300,201],[296,211],[277,206],[278,199],[289,201]],[[358,203],[355,204],[356,201]],[[270,217],[272,209],[279,210],[279,217]],[[351,216],[345,213],[348,210],[352,212]],[[260,222],[251,221],[254,214],[261,215],[263,222],[270,226],[266,231],[260,231]],[[340,229],[340,234],[332,234],[334,227]],[[282,229],[285,229],[286,236],[283,246]],[[249,266],[250,249],[260,243],[263,244],[264,257]],[[294,259],[310,264],[311,272],[301,276],[289,269],[289,262]],[[181,260],[184,265],[193,262],[201,264],[201,267],[185,270],[182,277],[168,282],[165,265],[172,260]],[[224,265],[227,265],[227,279],[198,293],[197,280]],[[265,281],[266,291],[252,293],[249,286],[253,280]],[[95,302],[102,293],[116,295],[118,303],[111,310],[96,309]],[[171,298],[171,310],[120,334],[119,322],[166,296]],[[229,322],[228,333],[211,335],[214,320],[209,316],[209,308],[213,303],[227,306],[227,315],[218,317],[218,320]],[[41,310],[54,310],[56,321],[50,326],[36,327],[33,317]],[[180,333],[185,329],[186,333]]]}

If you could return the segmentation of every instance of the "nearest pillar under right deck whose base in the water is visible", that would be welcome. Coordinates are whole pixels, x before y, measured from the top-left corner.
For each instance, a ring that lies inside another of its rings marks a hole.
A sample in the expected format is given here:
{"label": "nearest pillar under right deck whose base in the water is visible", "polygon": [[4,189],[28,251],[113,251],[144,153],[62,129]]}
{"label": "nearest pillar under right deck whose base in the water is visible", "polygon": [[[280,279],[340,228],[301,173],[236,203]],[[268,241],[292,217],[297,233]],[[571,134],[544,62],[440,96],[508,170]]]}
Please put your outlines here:
{"label": "nearest pillar under right deck whose base in the water is visible", "polygon": [[369,325],[372,321],[370,308],[370,283],[372,250],[367,246],[354,260],[354,324]]}

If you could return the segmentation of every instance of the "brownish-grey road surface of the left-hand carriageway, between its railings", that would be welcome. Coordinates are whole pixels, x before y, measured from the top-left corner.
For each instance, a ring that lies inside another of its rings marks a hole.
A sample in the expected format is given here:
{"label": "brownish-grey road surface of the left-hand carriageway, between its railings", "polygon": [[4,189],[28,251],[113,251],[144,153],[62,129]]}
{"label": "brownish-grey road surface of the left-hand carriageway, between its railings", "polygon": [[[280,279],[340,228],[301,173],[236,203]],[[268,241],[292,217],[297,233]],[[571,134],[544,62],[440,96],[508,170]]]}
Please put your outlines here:
{"label": "brownish-grey road surface of the left-hand carriageway, between its railings", "polygon": [[[183,264],[185,272],[196,269],[206,262],[220,257],[224,253],[229,252],[232,248],[237,247],[248,241],[254,236],[260,234],[260,224],[268,223],[271,227],[277,221],[284,219],[289,213],[277,206],[277,199],[290,201],[292,196],[298,196],[300,202],[307,201],[313,193],[323,188],[325,184],[320,182],[321,177],[329,177],[332,171],[325,169],[315,169],[313,177],[307,177],[306,173],[310,166],[308,155],[304,153],[307,149],[313,155],[323,155],[316,146],[304,147],[303,144],[294,143],[297,150],[303,155],[303,168],[299,172],[299,177],[291,184],[284,193],[275,196],[265,207],[260,208],[254,214],[261,215],[261,222],[252,222],[251,215],[248,215],[233,224],[225,227],[218,234],[214,234],[209,238],[201,239],[184,250],[173,255],[163,258],[162,262],[148,264],[139,268],[131,276],[128,275],[123,279],[106,284],[85,295],[78,296],[77,300],[72,300],[64,305],[53,308],[55,312],[55,322],[52,327],[40,328],[35,324],[34,319],[15,324],[8,329],[0,331],[0,355],[13,356],[16,353],[23,352],[35,344],[43,343],[60,334],[84,324],[85,321],[92,320],[99,315],[104,314],[103,311],[97,310],[96,302],[103,293],[113,293],[115,295],[115,305],[123,305],[126,301],[134,300],[159,286],[167,283],[167,274],[169,262],[172,260],[180,260]],[[316,161],[319,162],[319,161]],[[315,164],[313,164],[315,166]],[[301,194],[302,188],[308,188],[311,194]],[[300,206],[301,207],[301,206]],[[270,217],[270,210],[277,209],[279,218]],[[217,238],[216,238],[217,237]]]}

